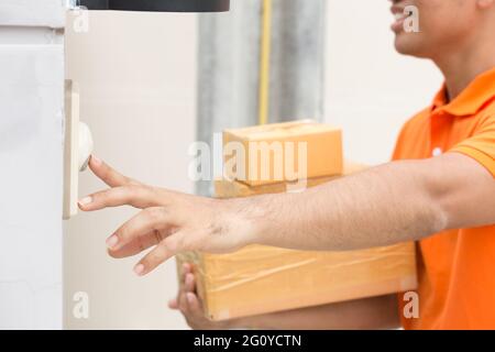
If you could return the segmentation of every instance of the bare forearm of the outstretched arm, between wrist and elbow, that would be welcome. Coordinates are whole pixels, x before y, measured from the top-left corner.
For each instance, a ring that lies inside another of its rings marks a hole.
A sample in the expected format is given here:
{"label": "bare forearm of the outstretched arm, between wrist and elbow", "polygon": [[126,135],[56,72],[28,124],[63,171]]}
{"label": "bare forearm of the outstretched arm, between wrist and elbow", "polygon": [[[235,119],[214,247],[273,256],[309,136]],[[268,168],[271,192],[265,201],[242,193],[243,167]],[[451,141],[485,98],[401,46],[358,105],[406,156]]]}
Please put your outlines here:
{"label": "bare forearm of the outstretched arm, between wrist and elbow", "polygon": [[298,250],[356,250],[441,231],[425,162],[391,163],[300,194],[253,199],[254,241]]}

